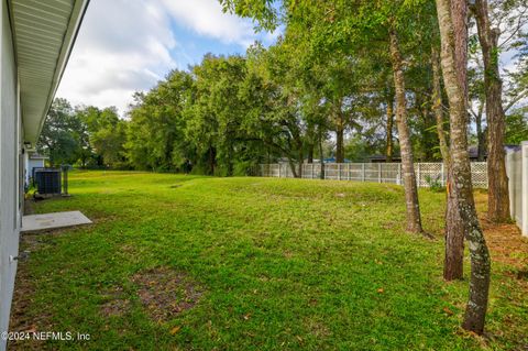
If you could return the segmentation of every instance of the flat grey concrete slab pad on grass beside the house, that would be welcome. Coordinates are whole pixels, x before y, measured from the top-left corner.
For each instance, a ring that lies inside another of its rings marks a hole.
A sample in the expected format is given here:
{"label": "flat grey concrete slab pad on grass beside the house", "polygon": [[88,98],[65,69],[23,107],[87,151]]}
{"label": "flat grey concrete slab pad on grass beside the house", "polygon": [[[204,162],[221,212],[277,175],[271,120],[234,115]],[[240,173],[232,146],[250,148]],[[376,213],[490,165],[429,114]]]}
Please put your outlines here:
{"label": "flat grey concrete slab pad on grass beside the house", "polygon": [[50,230],[90,223],[91,220],[80,211],[30,215],[22,218],[21,232]]}

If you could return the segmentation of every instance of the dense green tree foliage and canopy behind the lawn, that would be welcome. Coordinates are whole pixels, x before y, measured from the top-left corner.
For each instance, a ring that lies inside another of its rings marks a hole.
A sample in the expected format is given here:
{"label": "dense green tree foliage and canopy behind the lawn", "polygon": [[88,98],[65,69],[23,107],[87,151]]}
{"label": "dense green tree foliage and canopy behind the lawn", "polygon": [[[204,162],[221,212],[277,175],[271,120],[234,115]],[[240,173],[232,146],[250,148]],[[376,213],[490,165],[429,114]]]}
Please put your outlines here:
{"label": "dense green tree foliage and canopy behind the lawn", "polygon": [[[508,0],[501,13],[515,12],[510,9],[524,1]],[[432,110],[430,53],[440,45],[435,1],[220,2],[226,11],[254,19],[260,29],[284,25],[284,34],[271,47],[255,43],[245,55],[208,54],[188,72],[170,72],[150,91],[135,94],[125,120],[112,108],[72,111],[57,105],[41,149],[53,154],[53,162],[219,176],[251,174],[260,163],[279,160],[300,176],[295,164],[317,158],[397,156],[399,135],[394,106],[389,109],[395,90],[388,47],[393,31],[404,58],[415,160],[441,158]],[[507,143],[527,139],[522,33],[515,41],[520,69],[508,73]],[[471,42],[473,54],[477,42]],[[477,138],[470,138],[481,151],[483,77],[479,65],[472,65],[471,116],[477,127],[470,130]]]}

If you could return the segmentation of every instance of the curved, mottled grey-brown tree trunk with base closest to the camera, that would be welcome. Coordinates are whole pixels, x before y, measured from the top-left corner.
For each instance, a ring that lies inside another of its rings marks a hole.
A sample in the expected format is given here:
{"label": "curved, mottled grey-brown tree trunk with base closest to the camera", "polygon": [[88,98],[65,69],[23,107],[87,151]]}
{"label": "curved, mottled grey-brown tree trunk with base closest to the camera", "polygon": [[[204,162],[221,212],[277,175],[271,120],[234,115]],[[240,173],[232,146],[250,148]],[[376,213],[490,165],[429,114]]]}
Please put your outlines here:
{"label": "curved, mottled grey-brown tree trunk with base closest to the camera", "polygon": [[[466,0],[437,0],[442,42],[441,64],[450,107],[452,186],[449,187],[449,191],[457,197],[471,254],[470,299],[462,327],[482,334],[487,309],[491,262],[476,216],[468,153],[466,12]],[[464,57],[460,57],[460,55],[464,55]]]}

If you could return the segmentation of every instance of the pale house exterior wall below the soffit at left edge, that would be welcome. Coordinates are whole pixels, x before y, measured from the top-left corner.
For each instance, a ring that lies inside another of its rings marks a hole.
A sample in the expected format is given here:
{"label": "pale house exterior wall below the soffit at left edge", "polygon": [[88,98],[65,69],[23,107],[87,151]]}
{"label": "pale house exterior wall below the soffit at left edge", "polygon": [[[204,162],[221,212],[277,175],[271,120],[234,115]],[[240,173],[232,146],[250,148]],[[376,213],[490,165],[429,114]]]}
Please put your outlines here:
{"label": "pale house exterior wall below the soffit at left edge", "polygon": [[[9,328],[11,297],[16,273],[23,194],[20,174],[23,156],[16,64],[7,1],[1,1],[0,57],[0,332]],[[6,340],[0,338],[0,350]]]}

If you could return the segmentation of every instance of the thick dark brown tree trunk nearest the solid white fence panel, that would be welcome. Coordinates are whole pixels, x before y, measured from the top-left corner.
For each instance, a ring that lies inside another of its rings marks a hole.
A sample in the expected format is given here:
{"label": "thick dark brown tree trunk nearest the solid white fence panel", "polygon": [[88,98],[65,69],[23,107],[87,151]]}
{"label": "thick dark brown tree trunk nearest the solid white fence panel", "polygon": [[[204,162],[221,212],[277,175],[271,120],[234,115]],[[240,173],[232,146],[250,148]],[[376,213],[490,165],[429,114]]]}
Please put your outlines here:
{"label": "thick dark brown tree trunk nearest the solid white fence panel", "polygon": [[498,70],[498,36],[501,30],[491,28],[487,0],[476,0],[472,10],[476,19],[479,41],[484,61],[487,119],[487,217],[492,221],[505,222],[509,220],[510,215],[504,151],[503,81]]}

